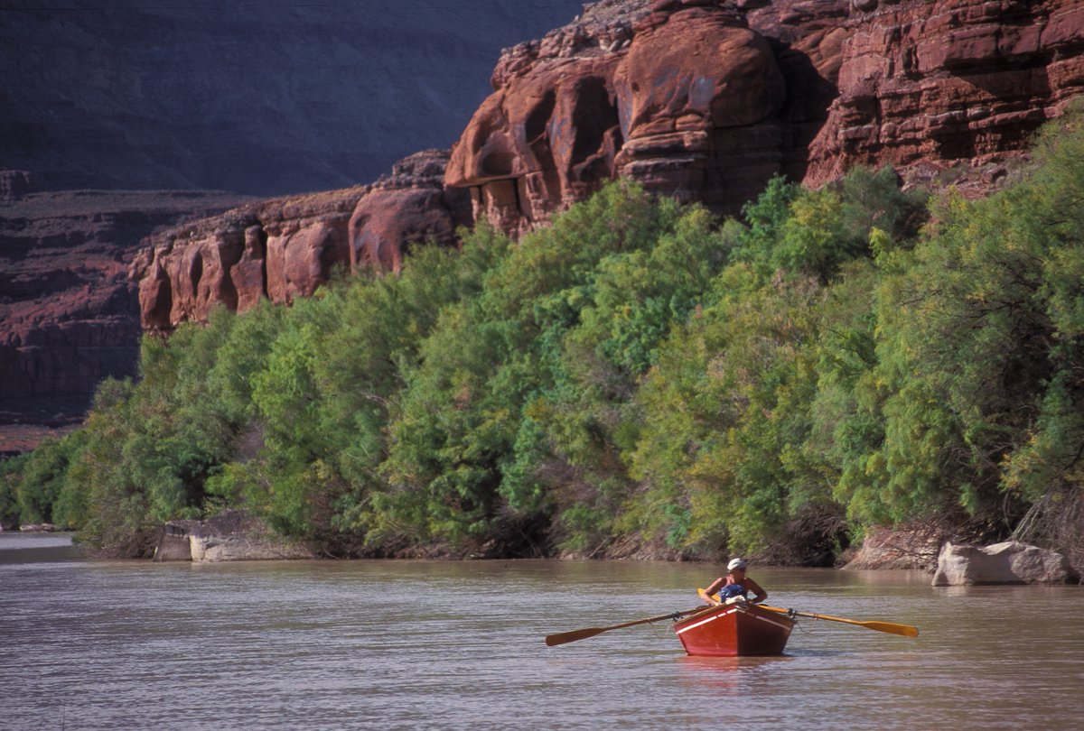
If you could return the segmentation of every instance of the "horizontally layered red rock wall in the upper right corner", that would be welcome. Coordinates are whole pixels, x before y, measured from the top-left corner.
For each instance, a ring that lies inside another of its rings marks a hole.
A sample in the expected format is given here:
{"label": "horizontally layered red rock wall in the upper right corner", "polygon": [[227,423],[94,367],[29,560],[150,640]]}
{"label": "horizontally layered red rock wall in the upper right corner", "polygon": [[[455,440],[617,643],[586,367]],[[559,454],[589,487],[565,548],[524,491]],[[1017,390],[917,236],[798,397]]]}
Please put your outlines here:
{"label": "horizontally layered red rock wall in the upper right corner", "polygon": [[855,165],[892,162],[921,179],[963,164],[964,183],[981,188],[1084,90],[1079,0],[851,5],[810,185]]}

